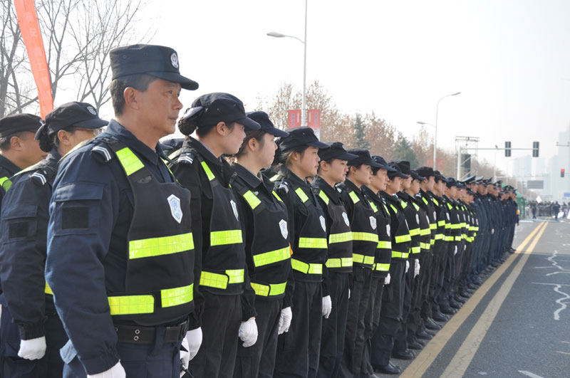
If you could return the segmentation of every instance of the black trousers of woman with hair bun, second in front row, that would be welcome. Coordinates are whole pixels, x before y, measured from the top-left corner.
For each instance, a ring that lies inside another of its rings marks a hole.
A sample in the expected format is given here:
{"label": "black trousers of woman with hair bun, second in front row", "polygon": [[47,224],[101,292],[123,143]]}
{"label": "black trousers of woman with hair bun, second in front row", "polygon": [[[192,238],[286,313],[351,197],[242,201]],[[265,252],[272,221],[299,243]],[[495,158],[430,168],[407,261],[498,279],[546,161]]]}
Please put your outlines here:
{"label": "black trousers of woman with hair bun, second in front row", "polygon": [[242,324],[240,295],[216,295],[203,290],[202,345],[190,361],[195,377],[233,377]]}

